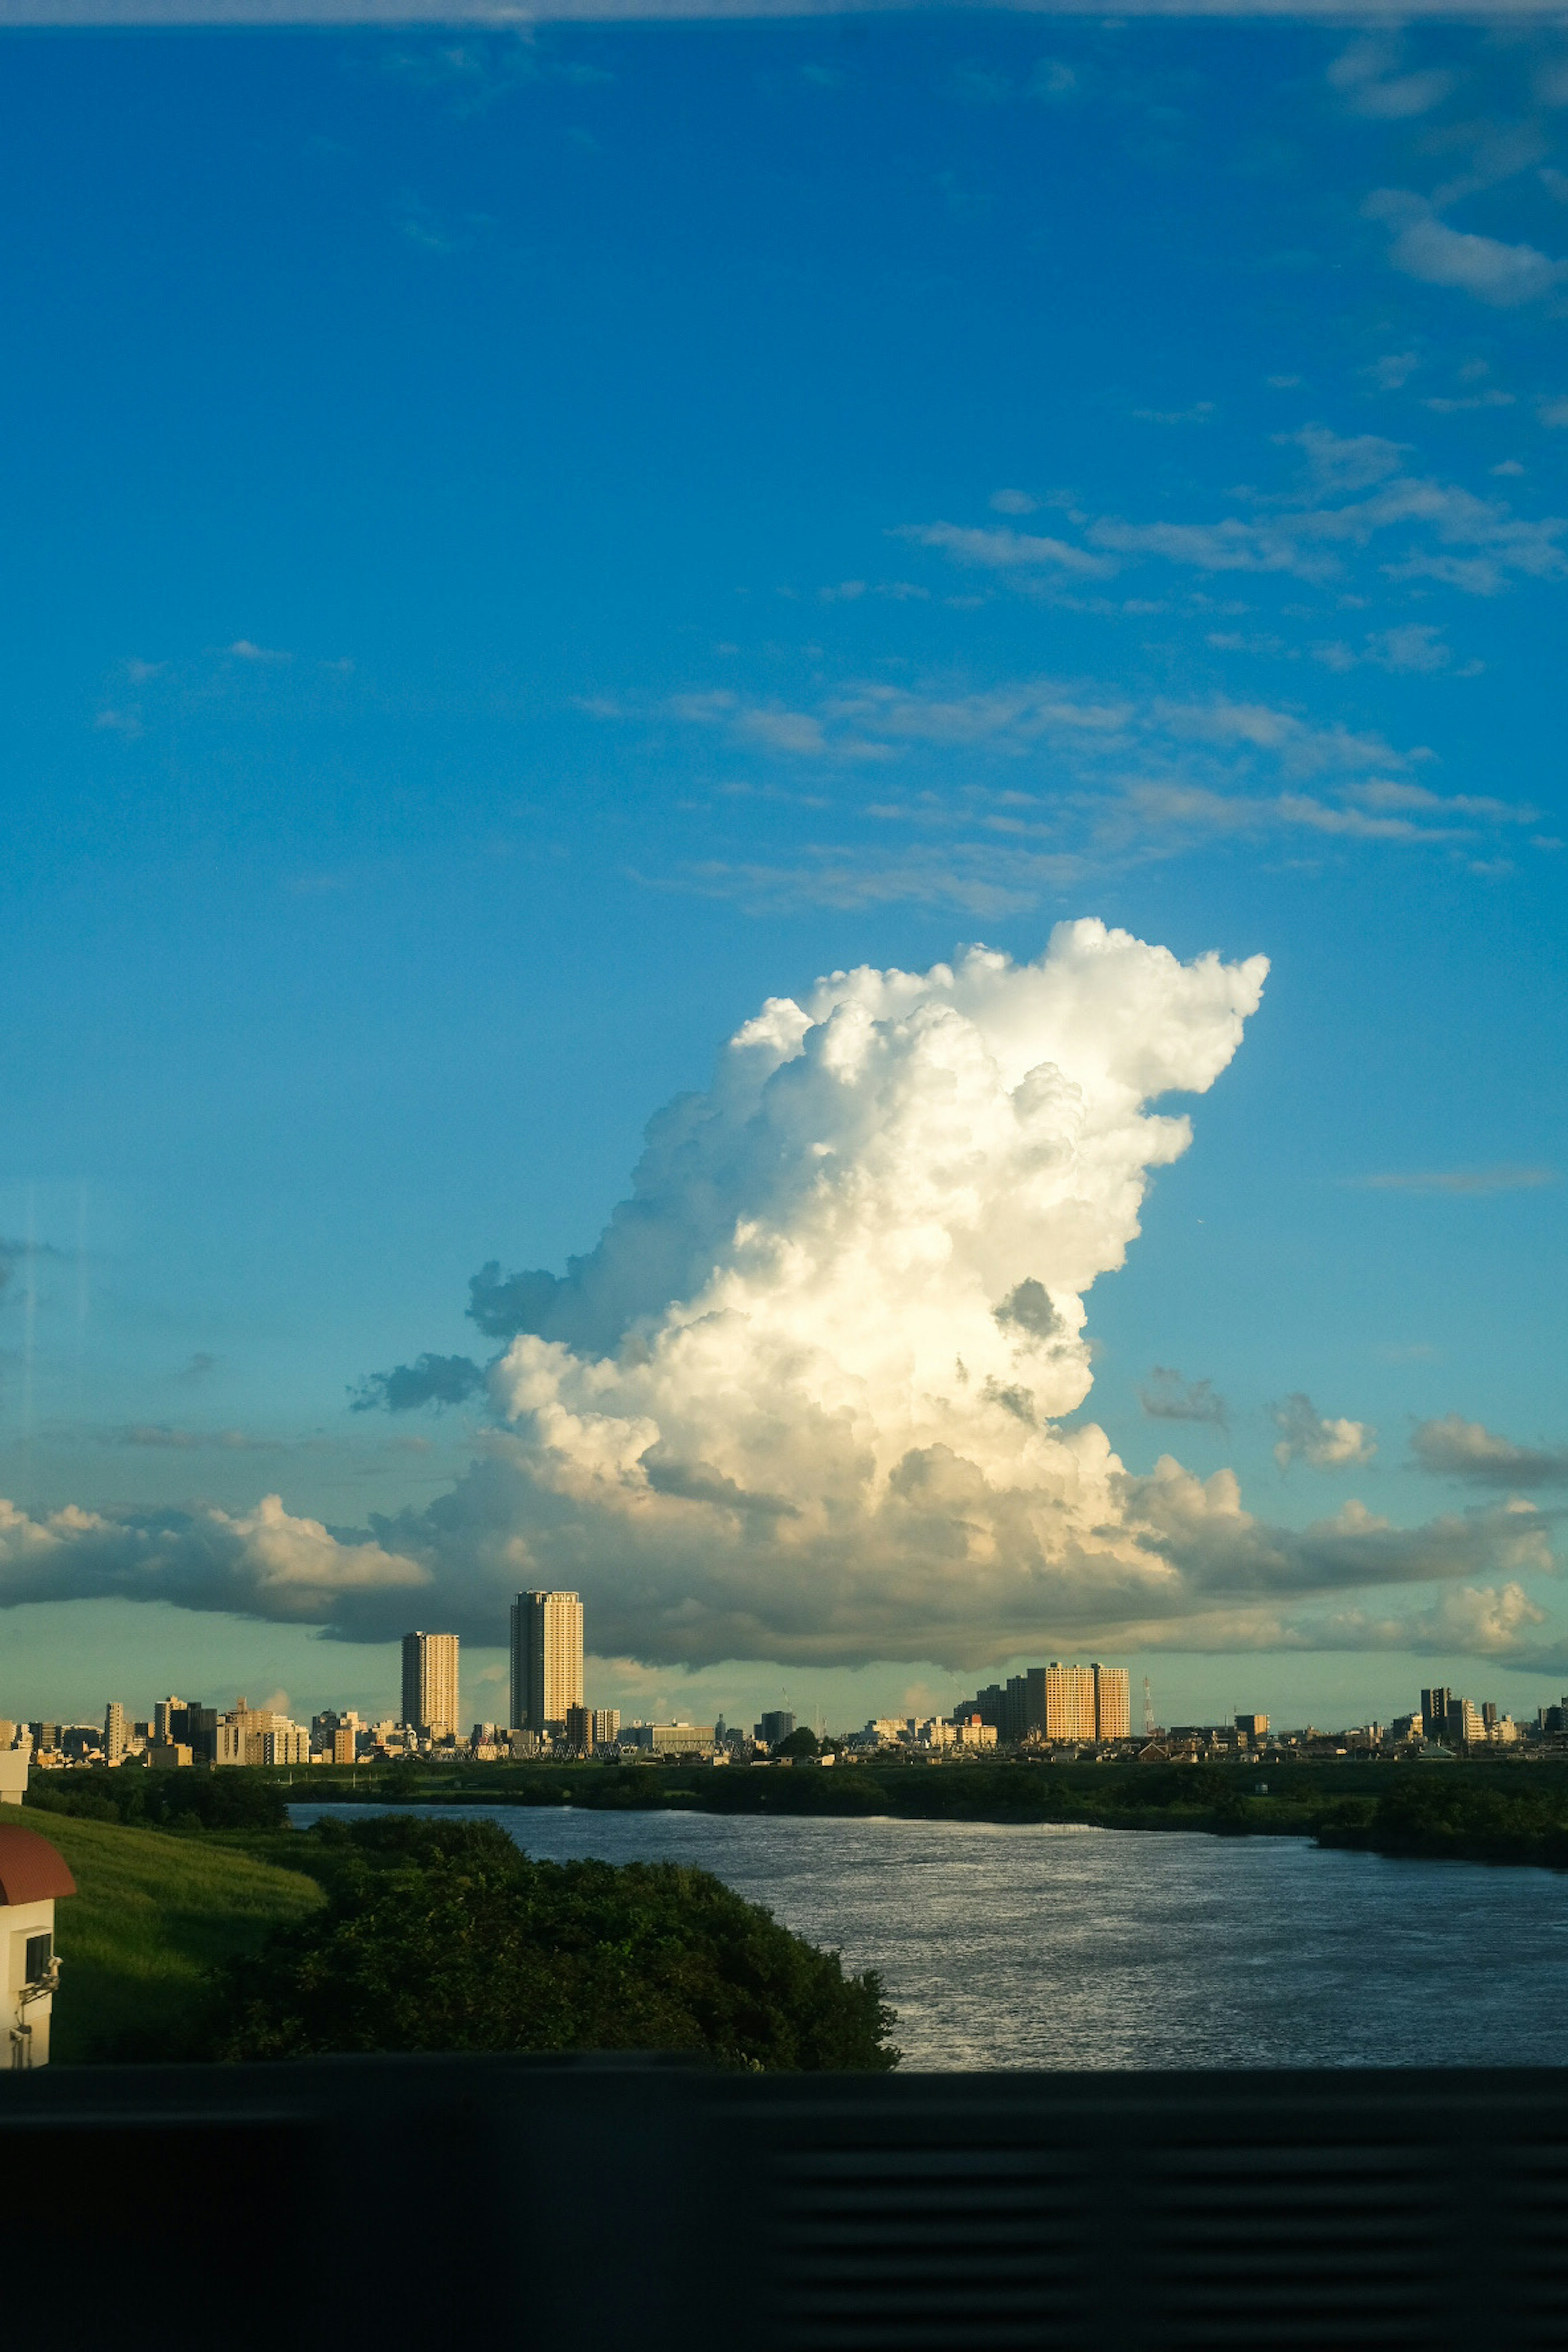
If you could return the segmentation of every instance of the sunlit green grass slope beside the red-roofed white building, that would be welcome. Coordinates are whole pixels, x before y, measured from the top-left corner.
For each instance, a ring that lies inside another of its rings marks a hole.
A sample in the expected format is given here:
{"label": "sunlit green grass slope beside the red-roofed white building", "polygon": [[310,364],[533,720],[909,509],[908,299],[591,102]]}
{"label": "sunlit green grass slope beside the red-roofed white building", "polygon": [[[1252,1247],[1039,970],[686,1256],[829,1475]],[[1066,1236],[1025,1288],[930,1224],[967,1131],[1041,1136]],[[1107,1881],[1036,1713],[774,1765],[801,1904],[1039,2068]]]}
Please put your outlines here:
{"label": "sunlit green grass slope beside the red-roofed white building", "polygon": [[254,1950],[322,1900],[315,1879],[209,1837],[127,1830],[68,1813],[9,1816],[66,1856],[75,1896],[56,1905],[61,1990],[52,2058],[82,2063],[122,2032],[179,2025],[205,1969]]}

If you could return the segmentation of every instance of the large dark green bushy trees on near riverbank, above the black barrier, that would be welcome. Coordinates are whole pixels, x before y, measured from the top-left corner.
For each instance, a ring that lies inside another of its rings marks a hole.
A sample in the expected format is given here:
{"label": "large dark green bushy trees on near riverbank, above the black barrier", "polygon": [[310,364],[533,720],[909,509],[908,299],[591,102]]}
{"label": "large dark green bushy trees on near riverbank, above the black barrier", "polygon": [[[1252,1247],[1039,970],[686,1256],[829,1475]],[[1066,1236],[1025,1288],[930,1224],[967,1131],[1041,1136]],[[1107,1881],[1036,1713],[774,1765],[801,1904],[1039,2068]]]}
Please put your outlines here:
{"label": "large dark green bushy trees on near riverbank, above the black barrier", "polygon": [[705,1870],[534,1863],[487,1820],[310,1832],[327,1910],[235,1959],[212,2058],[693,2051],[729,2067],[898,2063],[875,1973],[844,1976]]}

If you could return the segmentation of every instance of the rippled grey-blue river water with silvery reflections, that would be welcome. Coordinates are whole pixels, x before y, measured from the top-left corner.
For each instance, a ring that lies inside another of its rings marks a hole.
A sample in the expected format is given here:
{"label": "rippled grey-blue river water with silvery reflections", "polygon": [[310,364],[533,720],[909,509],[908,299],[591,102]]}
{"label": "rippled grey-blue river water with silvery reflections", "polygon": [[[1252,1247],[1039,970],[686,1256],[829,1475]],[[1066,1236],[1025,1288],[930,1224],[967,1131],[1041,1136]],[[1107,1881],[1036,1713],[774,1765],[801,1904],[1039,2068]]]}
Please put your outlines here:
{"label": "rippled grey-blue river water with silvery reflections", "polygon": [[701,1863],[882,1969],[917,2067],[1568,2063],[1568,1879],[1544,1870],[1295,1837],[447,1813],[498,1820],[541,1860]]}

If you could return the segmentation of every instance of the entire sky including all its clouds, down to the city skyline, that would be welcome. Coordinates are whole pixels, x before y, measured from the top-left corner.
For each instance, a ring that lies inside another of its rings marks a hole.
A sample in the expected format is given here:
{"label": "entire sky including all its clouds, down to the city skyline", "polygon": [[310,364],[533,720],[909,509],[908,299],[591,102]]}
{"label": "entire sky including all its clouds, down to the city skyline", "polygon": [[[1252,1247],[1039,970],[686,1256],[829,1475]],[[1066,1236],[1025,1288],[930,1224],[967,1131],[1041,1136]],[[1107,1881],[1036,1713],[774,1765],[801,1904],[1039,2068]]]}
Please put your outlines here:
{"label": "entire sky including all its clouds, down to the city skyline", "polygon": [[106,56],[0,94],[0,1705],[498,1719],[524,1585],[628,1719],[1556,1703],[1561,28]]}

